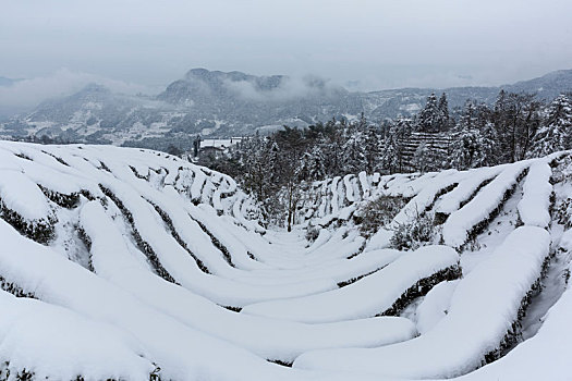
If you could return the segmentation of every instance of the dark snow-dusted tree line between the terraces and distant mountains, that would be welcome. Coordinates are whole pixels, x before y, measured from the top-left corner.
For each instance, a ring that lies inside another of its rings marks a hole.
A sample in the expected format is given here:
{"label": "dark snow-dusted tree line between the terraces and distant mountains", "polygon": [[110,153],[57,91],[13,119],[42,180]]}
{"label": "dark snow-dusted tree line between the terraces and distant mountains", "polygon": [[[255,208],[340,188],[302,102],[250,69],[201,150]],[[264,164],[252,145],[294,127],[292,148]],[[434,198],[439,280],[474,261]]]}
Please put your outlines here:
{"label": "dark snow-dusted tree line between the terraces and distant mountains", "polygon": [[[419,134],[441,137],[447,147],[407,146]],[[307,128],[283,126],[244,139],[222,158],[202,164],[228,173],[251,192],[268,217],[292,223],[303,188],[313,181],[348,173],[466,170],[541,157],[572,148],[572,96],[548,105],[533,94],[501,90],[490,107],[467,100],[449,110],[447,96],[431,94],[413,118],[369,123],[332,119]]]}

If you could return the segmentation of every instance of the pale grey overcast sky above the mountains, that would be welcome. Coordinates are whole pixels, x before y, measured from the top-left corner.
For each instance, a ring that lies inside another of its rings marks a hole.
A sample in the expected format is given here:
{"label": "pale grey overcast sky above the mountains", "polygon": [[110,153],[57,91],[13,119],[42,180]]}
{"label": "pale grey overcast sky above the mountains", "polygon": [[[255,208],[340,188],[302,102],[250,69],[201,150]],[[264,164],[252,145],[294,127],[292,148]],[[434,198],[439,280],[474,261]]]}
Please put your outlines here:
{"label": "pale grey overcast sky above the mountains", "polygon": [[157,88],[207,67],[381,89],[498,85],[572,69],[571,0],[0,4],[0,76],[8,77],[63,73]]}

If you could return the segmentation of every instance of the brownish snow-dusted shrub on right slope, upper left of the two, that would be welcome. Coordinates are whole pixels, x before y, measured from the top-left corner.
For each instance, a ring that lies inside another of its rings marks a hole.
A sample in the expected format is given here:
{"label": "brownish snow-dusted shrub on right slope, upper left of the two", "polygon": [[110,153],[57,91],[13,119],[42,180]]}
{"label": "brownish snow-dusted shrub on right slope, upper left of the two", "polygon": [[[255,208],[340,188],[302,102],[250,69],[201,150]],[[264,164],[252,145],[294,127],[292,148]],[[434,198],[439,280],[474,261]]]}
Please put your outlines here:
{"label": "brownish snow-dusted shrub on right slope, upper left of the two", "polygon": [[370,236],[386,226],[405,206],[403,197],[380,196],[367,202],[354,213],[354,222],[360,224],[360,230],[365,236]]}

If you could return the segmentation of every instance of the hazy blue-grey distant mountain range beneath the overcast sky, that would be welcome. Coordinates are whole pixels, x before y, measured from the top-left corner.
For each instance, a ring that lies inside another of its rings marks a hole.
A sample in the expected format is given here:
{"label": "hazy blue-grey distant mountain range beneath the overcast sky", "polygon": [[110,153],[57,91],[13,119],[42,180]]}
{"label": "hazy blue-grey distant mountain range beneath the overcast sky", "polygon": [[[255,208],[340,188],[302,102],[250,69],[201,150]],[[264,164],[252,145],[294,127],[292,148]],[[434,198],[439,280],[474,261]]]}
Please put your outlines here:
{"label": "hazy blue-grey distant mountain range beneath the overcast sky", "polygon": [[572,91],[572,70],[499,87],[401,88],[349,91],[318,77],[255,76],[193,69],[156,97],[115,94],[89,85],[0,123],[0,135],[47,135],[72,142],[166,149],[204,136],[252,135],[284,124],[305,127],[332,118],[372,121],[416,113],[431,93],[446,93],[450,108],[466,99],[492,103],[500,91],[536,93],[550,100]]}

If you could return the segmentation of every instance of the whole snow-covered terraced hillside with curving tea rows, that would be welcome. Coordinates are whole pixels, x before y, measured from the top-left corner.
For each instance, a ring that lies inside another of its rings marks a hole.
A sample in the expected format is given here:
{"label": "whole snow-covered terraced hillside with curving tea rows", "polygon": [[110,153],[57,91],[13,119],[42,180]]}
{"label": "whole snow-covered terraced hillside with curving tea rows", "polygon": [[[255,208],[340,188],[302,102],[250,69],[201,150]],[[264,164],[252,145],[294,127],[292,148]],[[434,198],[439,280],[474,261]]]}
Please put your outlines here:
{"label": "whole snow-covered terraced hillside with curving tea rows", "polygon": [[[567,152],[316,183],[291,233],[155,151],[2,142],[0,172],[0,380],[572,374]],[[402,207],[366,234],[380,197]]]}

